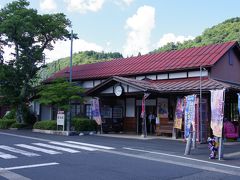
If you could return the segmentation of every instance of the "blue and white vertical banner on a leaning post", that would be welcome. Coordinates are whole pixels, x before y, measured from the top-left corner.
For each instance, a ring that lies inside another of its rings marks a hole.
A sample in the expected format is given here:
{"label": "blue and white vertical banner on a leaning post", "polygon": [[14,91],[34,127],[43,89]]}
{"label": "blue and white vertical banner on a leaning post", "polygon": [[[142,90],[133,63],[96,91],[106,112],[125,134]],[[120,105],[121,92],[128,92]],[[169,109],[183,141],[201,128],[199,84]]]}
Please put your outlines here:
{"label": "blue and white vertical banner on a leaning post", "polygon": [[186,106],[185,106],[185,123],[184,123],[184,136],[185,138],[189,137],[191,131],[191,125],[194,126],[195,120],[195,101],[196,95],[186,96]]}

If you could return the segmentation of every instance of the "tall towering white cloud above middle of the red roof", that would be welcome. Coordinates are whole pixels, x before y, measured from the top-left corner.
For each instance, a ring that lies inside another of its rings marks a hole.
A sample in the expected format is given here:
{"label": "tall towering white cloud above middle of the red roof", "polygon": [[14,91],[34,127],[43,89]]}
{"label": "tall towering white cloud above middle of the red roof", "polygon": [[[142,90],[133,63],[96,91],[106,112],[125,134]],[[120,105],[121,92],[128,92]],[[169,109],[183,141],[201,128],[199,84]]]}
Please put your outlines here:
{"label": "tall towering white cloud above middle of the red roof", "polygon": [[127,19],[126,29],[129,29],[123,55],[131,56],[149,52],[151,31],[155,27],[155,8],[142,6],[137,13]]}

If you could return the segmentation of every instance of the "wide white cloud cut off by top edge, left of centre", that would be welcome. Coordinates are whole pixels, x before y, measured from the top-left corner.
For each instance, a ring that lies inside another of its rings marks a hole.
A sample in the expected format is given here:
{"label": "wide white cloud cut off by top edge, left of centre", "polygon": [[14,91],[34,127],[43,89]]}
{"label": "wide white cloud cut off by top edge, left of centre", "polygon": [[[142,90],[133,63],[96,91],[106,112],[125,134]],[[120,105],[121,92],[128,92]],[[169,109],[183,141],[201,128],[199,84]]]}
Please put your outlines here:
{"label": "wide white cloud cut off by top edge, left of centre", "polygon": [[105,0],[65,0],[69,11],[86,13],[87,11],[97,12],[100,10]]}

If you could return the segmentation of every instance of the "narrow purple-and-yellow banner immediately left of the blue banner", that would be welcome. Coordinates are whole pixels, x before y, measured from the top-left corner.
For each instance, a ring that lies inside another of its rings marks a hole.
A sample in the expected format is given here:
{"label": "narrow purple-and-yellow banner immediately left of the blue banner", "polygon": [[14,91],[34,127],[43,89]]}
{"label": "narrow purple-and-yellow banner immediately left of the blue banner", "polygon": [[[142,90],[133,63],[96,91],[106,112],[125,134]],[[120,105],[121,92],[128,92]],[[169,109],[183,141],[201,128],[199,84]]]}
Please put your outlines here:
{"label": "narrow purple-and-yellow banner immediately left of the blue banner", "polygon": [[174,128],[182,129],[182,116],[183,116],[183,99],[177,99],[175,119],[174,119]]}

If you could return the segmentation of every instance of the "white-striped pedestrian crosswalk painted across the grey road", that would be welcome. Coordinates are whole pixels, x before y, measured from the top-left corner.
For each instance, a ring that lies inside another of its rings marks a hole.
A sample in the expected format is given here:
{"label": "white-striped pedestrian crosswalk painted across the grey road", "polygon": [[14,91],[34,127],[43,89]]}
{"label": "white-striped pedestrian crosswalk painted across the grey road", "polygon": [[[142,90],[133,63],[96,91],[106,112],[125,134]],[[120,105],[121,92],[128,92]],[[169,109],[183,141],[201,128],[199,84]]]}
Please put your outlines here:
{"label": "white-striped pedestrian crosswalk painted across the grey road", "polygon": [[113,149],[115,148],[76,141],[49,141],[46,143],[13,144],[11,146],[0,144],[0,160],[16,159],[21,156],[37,157],[43,154],[56,155],[63,153],[79,153],[81,151],[93,152]]}

